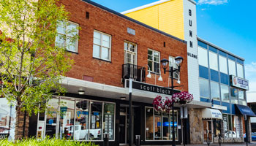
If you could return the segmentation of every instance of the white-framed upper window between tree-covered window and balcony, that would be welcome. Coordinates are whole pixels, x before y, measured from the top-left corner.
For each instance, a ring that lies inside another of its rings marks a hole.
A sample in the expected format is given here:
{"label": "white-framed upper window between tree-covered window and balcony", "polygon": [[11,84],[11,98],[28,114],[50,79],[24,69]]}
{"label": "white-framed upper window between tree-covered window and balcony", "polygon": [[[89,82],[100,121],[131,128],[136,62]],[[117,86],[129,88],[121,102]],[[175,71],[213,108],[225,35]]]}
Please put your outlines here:
{"label": "white-framed upper window between tree-covered window and balcony", "polygon": [[111,57],[111,36],[99,31],[94,31],[93,57],[110,61]]}

